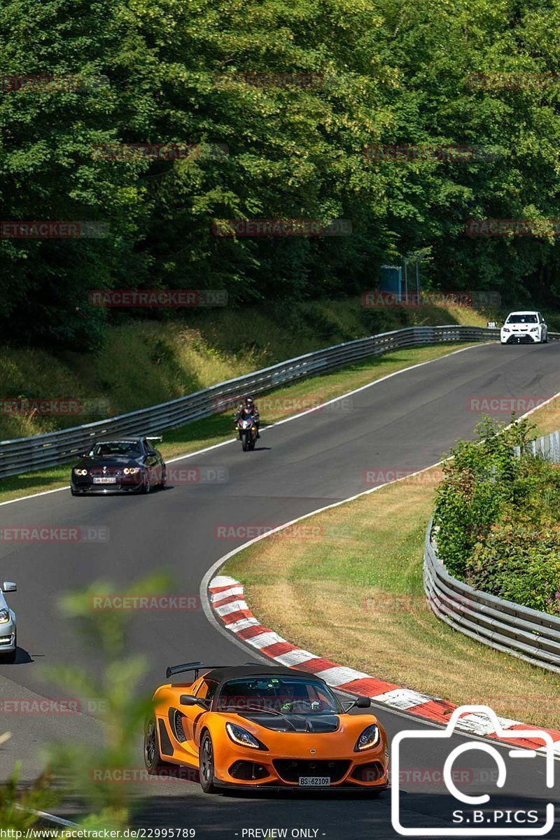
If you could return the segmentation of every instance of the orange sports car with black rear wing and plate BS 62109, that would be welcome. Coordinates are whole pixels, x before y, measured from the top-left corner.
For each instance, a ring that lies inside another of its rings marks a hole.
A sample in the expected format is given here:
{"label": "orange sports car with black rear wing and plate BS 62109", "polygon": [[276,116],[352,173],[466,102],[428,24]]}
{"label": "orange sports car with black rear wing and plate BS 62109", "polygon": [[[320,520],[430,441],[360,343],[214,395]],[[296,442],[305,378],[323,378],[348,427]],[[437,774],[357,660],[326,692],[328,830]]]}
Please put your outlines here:
{"label": "orange sports car with black rear wing and plate BS 62109", "polygon": [[146,722],[144,761],[151,774],[170,765],[197,769],[202,790],[368,790],[388,786],[385,729],[369,697],[342,705],[324,680],[283,666],[167,669]]}

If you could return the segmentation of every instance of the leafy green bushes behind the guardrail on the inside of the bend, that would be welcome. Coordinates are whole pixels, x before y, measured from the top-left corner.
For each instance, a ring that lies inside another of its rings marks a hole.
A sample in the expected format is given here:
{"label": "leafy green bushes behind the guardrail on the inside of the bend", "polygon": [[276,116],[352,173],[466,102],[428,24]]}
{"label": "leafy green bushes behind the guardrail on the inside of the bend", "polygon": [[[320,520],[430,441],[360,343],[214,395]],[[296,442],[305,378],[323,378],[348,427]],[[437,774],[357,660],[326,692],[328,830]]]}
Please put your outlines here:
{"label": "leafy green bushes behind the guardrail on the inside of the bend", "polygon": [[475,589],[560,615],[560,471],[527,451],[523,421],[480,424],[444,465],[434,524],[452,575]]}

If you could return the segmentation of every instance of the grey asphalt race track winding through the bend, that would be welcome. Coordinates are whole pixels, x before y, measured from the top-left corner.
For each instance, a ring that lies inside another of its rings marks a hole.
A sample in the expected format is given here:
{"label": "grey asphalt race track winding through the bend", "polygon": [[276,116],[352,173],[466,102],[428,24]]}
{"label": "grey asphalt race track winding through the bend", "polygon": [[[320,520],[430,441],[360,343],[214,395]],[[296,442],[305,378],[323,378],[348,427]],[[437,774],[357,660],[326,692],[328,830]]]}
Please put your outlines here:
{"label": "grey asphalt race track winding through the bend", "polygon": [[[95,655],[84,656],[57,612],[55,601],[61,592],[102,578],[126,585],[156,568],[170,571],[177,593],[197,596],[212,564],[246,542],[244,526],[275,526],[364,491],[371,486],[366,470],[419,470],[434,464],[455,438],[472,435],[478,419],[469,403],[472,397],[542,400],[557,391],[560,343],[485,344],[394,375],[348,396],[342,404],[265,429],[254,453],[243,453],[240,444],[232,443],[174,465],[216,468],[222,475],[228,470],[227,481],[175,484],[150,496],[72,498],[70,491],[60,491],[1,506],[3,526],[106,526],[109,539],[0,543],[2,578],[18,584],[18,593],[9,602],[17,612],[20,646],[18,662],[0,666],[0,696],[4,700],[34,693],[64,696],[40,679],[41,664],[81,662],[97,668]],[[508,418],[507,412],[489,413]],[[217,529],[224,526],[238,528],[238,537],[221,538]],[[201,610],[139,614],[133,619],[131,650],[149,656],[147,690],[165,681],[167,664],[191,659],[238,664],[254,659],[254,653],[245,654]],[[0,747],[0,771],[5,776],[13,761],[22,759],[26,779],[40,767],[37,755],[45,740],[95,742],[99,727],[88,715],[7,717],[3,716],[0,732],[9,729],[13,737]],[[385,709],[379,717],[391,736],[403,728],[430,726]],[[453,738],[454,745],[466,742],[477,743],[465,736]],[[505,748],[501,752],[507,756]],[[402,766],[441,768],[447,753],[437,741],[429,742],[423,753],[416,745],[403,757]],[[557,781],[553,790],[546,789],[542,758],[509,760],[507,791],[512,808],[542,812],[548,801],[560,801]],[[488,786],[484,782],[495,768],[489,756],[468,753],[458,763],[468,774],[469,793]],[[404,774],[402,783],[402,822],[408,827],[439,828],[442,836],[453,836],[450,815],[460,803],[451,804],[442,785],[419,783],[409,775]],[[379,800],[328,794],[208,796],[196,783],[175,780],[144,784],[141,798],[136,825],[194,827],[202,840],[264,837],[248,830],[282,827],[288,829],[287,837],[298,836],[291,833],[296,829],[311,830],[300,837],[328,840],[397,837],[390,823],[389,794]],[[467,813],[468,806],[463,807]],[[547,836],[560,837],[560,827]]]}

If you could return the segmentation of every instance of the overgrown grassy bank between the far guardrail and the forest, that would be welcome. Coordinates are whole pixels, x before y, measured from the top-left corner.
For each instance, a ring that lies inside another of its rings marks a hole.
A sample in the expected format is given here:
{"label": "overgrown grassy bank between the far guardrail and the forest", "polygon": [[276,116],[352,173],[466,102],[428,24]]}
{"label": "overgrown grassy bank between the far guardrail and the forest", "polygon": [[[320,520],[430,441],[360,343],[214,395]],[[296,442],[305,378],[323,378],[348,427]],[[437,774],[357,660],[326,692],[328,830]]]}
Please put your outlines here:
{"label": "overgrown grassy bank between the far guardrail and the forest", "polygon": [[122,318],[103,328],[100,345],[86,354],[0,347],[0,399],[81,403],[80,413],[70,416],[0,410],[0,440],[116,417],[374,333],[415,324],[486,323],[485,315],[468,307],[368,309],[359,298],[218,307],[175,320]]}

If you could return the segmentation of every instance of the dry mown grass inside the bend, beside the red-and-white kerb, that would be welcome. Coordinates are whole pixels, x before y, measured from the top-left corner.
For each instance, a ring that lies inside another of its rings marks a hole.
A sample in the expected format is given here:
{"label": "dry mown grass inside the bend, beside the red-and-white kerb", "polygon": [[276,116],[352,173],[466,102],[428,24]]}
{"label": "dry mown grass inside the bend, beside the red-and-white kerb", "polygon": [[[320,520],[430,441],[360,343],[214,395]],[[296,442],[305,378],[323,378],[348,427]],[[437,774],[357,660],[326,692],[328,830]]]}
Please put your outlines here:
{"label": "dry mown grass inside the bend, beside the red-and-white kerb", "polygon": [[[456,704],[560,728],[560,675],[439,621],[422,585],[437,466],[306,520],[313,539],[259,541],[222,573],[266,627],[318,656]],[[317,528],[319,529],[317,532]]]}

